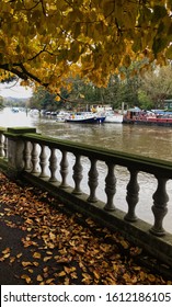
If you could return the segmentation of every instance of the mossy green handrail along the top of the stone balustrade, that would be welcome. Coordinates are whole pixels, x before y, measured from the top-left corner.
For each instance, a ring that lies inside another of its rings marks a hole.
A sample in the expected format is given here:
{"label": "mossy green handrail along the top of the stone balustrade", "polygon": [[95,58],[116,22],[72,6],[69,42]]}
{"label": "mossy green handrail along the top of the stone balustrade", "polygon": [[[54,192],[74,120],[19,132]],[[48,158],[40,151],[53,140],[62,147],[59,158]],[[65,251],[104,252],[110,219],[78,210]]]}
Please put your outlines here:
{"label": "mossy green handrail along the top of the stone balustrade", "polygon": [[[7,134],[8,135],[8,134]],[[90,145],[83,145],[80,143],[72,143],[69,140],[61,140],[54,137],[46,137],[43,135],[24,134],[22,138],[31,141],[38,141],[42,145],[50,145],[58,149],[65,149],[70,152],[79,152],[87,157],[94,157],[102,161],[114,161],[118,166],[135,167],[142,172],[151,174],[160,174],[164,178],[172,179],[172,162],[161,159],[148,158],[139,155],[131,155],[127,152],[121,152],[117,150],[102,149]]]}

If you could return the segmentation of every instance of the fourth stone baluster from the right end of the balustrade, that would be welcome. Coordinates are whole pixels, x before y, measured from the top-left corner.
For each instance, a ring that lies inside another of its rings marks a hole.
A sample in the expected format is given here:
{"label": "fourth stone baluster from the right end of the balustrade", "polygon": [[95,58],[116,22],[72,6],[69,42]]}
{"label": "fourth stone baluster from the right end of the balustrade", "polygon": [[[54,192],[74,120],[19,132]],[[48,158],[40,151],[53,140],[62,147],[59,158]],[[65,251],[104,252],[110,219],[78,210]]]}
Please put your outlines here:
{"label": "fourth stone baluster from the right end of the balustrade", "polygon": [[90,187],[90,196],[88,197],[88,202],[90,203],[95,203],[98,202],[98,198],[95,196],[95,191],[98,187],[98,170],[96,170],[96,159],[90,159],[91,161],[91,168],[89,171],[89,181],[88,181],[88,185]]}

